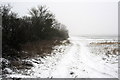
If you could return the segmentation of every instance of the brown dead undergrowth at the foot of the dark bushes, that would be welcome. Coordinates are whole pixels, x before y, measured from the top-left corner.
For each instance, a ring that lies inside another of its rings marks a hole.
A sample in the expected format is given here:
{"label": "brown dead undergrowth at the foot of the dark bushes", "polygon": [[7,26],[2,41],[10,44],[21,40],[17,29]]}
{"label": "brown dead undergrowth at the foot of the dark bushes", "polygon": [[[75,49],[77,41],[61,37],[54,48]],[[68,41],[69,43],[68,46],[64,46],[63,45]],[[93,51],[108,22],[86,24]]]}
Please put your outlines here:
{"label": "brown dead undergrowth at the foot of the dark bushes", "polygon": [[21,55],[23,58],[31,58],[35,56],[45,56],[50,54],[53,47],[60,45],[58,40],[42,40],[37,42],[28,42],[22,45]]}

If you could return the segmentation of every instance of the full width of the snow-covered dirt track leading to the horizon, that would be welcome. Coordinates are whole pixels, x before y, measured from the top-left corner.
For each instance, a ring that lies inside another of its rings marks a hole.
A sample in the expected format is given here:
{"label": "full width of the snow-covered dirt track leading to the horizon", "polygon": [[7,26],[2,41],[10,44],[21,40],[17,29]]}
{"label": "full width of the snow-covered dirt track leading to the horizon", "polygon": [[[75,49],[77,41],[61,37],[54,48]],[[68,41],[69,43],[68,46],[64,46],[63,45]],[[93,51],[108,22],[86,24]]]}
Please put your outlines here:
{"label": "full width of the snow-covered dirt track leading to the horizon", "polygon": [[105,66],[104,62],[99,63],[84,42],[74,40],[72,43],[70,51],[64,55],[53,71],[53,78],[117,78],[114,70]]}

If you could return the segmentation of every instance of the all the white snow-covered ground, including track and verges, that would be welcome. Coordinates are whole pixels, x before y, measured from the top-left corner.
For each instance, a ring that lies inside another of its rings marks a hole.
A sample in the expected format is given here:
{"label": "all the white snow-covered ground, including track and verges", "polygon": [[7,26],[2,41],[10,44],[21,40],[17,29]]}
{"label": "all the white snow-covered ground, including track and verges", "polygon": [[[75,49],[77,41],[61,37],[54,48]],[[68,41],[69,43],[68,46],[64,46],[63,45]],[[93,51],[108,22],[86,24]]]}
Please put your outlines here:
{"label": "all the white snow-covered ground, including track and verges", "polygon": [[[30,70],[24,70],[24,74],[13,73],[8,74],[7,77],[118,78],[118,55],[107,57],[99,50],[95,52],[96,48],[88,46],[91,42],[101,41],[106,40],[71,37],[70,45],[56,46],[53,53],[45,58],[28,60],[33,63],[34,67]],[[114,40],[108,41],[114,42]],[[57,51],[56,49],[61,50]],[[96,54],[97,52],[100,54]]]}

